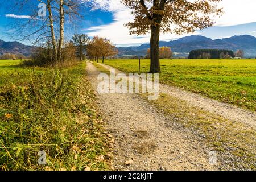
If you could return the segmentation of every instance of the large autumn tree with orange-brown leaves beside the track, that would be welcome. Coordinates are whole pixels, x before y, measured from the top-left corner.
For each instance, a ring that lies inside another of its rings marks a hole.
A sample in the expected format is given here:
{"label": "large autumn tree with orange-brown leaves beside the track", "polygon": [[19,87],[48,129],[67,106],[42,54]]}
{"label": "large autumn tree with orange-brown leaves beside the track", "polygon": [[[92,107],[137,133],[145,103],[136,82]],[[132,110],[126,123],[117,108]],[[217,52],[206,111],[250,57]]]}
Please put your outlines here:
{"label": "large autumn tree with orange-brown leaves beside the track", "polygon": [[213,25],[212,15],[220,15],[221,0],[122,0],[134,15],[127,23],[130,34],[143,35],[151,31],[150,73],[160,72],[160,32],[183,34]]}

